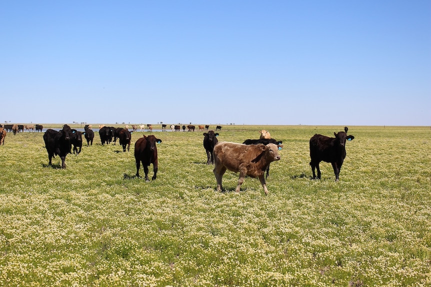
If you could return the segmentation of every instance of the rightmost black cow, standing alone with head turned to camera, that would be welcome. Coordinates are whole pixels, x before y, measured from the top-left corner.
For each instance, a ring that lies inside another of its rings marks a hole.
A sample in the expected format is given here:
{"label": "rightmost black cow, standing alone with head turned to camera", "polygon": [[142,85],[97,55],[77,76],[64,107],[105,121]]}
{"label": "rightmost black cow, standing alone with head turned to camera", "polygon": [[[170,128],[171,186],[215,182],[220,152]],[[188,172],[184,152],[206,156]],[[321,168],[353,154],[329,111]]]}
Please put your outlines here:
{"label": "rightmost black cow, standing alone with head turned to camera", "polygon": [[314,169],[317,168],[317,179],[320,179],[319,163],[321,161],[332,164],[335,181],[339,181],[338,175],[345,158],[345,141],[354,139],[345,132],[333,133],[335,138],[315,134],[310,139],[310,166],[313,179],[316,178]]}

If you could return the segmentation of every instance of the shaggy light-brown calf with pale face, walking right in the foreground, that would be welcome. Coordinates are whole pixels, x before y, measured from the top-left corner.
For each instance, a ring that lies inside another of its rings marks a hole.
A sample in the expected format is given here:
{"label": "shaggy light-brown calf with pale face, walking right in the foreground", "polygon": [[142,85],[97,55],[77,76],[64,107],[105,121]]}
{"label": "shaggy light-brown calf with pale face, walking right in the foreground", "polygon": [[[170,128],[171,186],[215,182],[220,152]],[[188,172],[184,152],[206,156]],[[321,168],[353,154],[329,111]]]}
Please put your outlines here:
{"label": "shaggy light-brown calf with pale face, walking right in the foreground", "polygon": [[258,178],[265,195],[266,188],[264,171],[268,164],[279,160],[278,147],[273,143],[268,145],[244,145],[231,142],[219,142],[214,146],[214,175],[217,181],[217,190],[222,189],[221,179],[226,170],[239,172],[238,185],[235,191],[239,192],[245,176]]}

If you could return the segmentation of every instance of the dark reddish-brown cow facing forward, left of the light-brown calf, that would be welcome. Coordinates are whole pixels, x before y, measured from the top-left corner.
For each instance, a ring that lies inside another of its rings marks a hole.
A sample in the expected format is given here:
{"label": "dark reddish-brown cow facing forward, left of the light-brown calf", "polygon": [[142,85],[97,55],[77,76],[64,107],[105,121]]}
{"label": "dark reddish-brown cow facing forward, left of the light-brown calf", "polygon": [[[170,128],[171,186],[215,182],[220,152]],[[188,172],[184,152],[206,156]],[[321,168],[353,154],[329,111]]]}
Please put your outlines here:
{"label": "dark reddish-brown cow facing forward, left of the light-brown calf", "polygon": [[152,180],[157,177],[158,159],[157,159],[157,147],[156,143],[161,143],[160,139],[157,139],[153,135],[143,136],[134,143],[134,159],[136,161],[136,177],[139,177],[140,162],[142,162],[143,171],[145,173],[145,181],[148,179],[148,166],[152,163],[154,175]]}

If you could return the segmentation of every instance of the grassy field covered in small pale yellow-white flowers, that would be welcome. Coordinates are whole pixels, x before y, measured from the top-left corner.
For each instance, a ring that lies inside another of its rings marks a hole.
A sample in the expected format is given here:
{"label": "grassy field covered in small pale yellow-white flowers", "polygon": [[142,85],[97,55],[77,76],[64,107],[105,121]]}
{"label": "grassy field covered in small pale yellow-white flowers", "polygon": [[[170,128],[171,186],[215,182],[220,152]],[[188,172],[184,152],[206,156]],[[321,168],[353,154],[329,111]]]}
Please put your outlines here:
{"label": "grassy field covered in small pale yellow-white flowers", "polygon": [[431,129],[350,126],[340,181],[328,163],[310,180],[309,138],[342,128],[223,126],[219,141],[259,129],[283,141],[267,196],[252,178],[235,193],[232,172],[217,192],[198,131],[153,132],[151,182],[134,177],[146,131],[129,152],[95,133],[65,170],[58,157],[47,166],[42,133],[8,133],[0,285],[431,286]]}

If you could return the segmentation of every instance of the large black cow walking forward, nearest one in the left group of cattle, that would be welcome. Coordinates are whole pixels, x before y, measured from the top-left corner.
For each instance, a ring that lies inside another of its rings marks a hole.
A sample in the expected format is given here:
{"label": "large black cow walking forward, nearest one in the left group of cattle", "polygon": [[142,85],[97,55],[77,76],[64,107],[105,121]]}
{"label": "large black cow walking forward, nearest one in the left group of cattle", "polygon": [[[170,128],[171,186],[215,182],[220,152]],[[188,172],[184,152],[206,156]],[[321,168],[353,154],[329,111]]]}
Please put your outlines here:
{"label": "large black cow walking forward, nearest one in the left group of cattle", "polygon": [[68,129],[67,127],[65,129],[63,127],[63,129],[58,132],[53,129],[47,129],[43,134],[43,141],[45,142],[45,148],[48,152],[49,165],[52,165],[52,157],[58,155],[61,159],[61,168],[66,168],[64,161],[71,149],[70,127]]}

